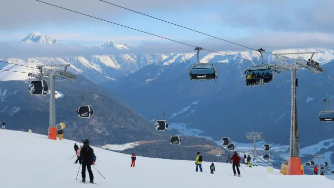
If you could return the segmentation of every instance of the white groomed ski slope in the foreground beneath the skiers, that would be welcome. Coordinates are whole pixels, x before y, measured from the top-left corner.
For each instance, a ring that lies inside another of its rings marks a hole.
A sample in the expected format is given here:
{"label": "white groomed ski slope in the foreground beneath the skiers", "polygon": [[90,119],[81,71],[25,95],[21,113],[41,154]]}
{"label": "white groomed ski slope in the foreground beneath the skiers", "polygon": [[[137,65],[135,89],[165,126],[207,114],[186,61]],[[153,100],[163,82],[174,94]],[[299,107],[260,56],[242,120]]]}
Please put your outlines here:
{"label": "white groomed ski slope in the foreground beneath the skiers", "polygon": [[[77,142],[77,144],[81,144]],[[47,136],[19,131],[0,130],[1,188],[288,188],[332,187],[334,181],[323,176],[284,176],[266,167],[240,169],[241,178],[233,174],[232,165],[215,163],[216,173],[209,173],[210,161],[203,162],[208,173],[196,173],[194,161],[165,160],[137,156],[136,167],[130,168],[131,156],[93,147],[97,156],[92,167],[97,185],[75,181],[79,164],[72,158],[74,141],[48,140]],[[194,158],[195,158],[194,153]],[[203,158],[205,161],[205,158]],[[81,170],[78,180],[81,180]],[[89,181],[86,172],[86,180]]]}

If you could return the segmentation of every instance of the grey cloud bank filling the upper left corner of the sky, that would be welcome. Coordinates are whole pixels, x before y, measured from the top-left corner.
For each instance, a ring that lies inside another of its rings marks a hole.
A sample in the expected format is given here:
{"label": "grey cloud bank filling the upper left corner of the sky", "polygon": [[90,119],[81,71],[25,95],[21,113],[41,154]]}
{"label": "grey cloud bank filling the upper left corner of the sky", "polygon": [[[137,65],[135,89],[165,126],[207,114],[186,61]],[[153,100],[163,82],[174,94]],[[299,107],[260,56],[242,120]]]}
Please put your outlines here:
{"label": "grey cloud bank filling the upper left corner of the sky", "polygon": [[[86,13],[102,19],[116,21],[131,11],[106,4],[99,0],[41,0],[64,8]],[[217,0],[105,0],[137,11],[172,10],[199,6]],[[78,13],[63,10],[36,0],[0,0],[1,30],[29,29],[37,27],[64,26],[82,22],[100,23]]]}

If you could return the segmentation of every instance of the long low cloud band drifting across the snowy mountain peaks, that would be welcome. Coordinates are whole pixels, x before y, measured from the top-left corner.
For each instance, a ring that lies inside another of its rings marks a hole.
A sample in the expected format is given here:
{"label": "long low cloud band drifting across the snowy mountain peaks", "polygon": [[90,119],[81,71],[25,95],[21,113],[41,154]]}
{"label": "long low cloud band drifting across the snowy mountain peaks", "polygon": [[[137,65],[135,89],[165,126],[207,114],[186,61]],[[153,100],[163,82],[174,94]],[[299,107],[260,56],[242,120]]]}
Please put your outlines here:
{"label": "long low cloud band drifting across the snowy mountain peaks", "polygon": [[[228,40],[228,39],[227,39]],[[126,42],[126,41],[125,41]],[[250,50],[239,47],[224,41],[208,38],[200,41],[181,41],[191,46],[203,47],[213,51]],[[334,35],[324,33],[276,33],[275,35],[262,35],[257,37],[244,38],[233,41],[240,45],[254,49],[263,47],[266,51],[270,49],[286,48],[316,48],[334,47]],[[68,57],[68,56],[91,56],[91,55],[118,55],[124,53],[186,53],[194,52],[194,47],[182,45],[175,42],[142,42],[139,47],[129,50],[100,49],[99,47],[87,48],[81,45],[62,44],[21,44],[21,43],[0,43],[0,58],[30,58],[30,57]],[[201,51],[201,53],[210,53]]]}

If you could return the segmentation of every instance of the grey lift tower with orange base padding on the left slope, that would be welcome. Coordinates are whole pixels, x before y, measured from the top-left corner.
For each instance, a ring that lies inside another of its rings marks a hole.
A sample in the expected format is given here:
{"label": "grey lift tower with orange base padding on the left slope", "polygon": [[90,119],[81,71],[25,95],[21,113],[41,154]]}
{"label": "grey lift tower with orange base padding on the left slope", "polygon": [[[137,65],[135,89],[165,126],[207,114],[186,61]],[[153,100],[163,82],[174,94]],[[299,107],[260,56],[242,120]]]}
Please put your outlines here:
{"label": "grey lift tower with orange base padding on the left slope", "polygon": [[[75,81],[77,79],[76,75],[66,72],[67,67],[70,64],[63,65],[37,65],[36,68],[39,70],[31,70],[28,76],[37,78],[39,80],[48,80],[50,82],[49,94],[50,94],[50,104],[49,104],[49,133],[50,128],[55,128],[55,81],[59,77],[62,80],[57,81]],[[50,136],[49,136],[50,139]]]}

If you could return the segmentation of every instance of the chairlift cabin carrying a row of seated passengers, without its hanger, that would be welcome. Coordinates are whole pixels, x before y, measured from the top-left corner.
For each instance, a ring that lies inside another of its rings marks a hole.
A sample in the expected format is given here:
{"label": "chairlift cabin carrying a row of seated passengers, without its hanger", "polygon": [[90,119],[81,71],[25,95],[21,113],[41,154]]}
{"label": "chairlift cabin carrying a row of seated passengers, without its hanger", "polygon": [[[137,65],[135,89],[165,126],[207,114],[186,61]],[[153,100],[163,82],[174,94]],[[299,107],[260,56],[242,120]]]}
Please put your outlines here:
{"label": "chairlift cabin carrying a row of seated passengers, without its hanger", "polygon": [[269,68],[248,68],[245,71],[246,86],[265,86],[273,81],[273,70]]}

